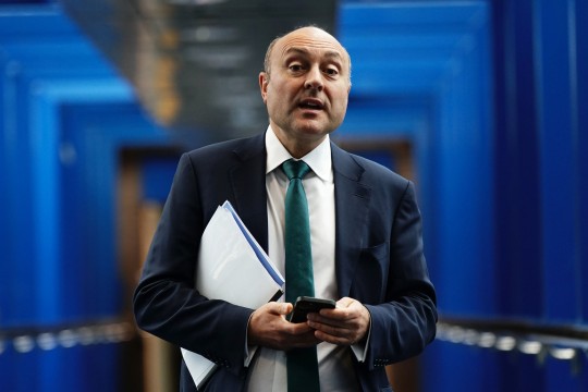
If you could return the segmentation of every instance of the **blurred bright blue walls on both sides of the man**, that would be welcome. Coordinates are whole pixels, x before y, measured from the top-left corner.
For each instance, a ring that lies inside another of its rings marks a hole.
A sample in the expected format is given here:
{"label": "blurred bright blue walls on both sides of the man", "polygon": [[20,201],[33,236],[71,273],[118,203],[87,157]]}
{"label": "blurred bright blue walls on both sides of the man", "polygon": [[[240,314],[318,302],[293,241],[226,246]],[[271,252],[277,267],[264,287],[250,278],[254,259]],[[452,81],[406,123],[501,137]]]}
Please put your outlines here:
{"label": "blurred bright blue walls on both sides of the man", "polygon": [[[58,4],[14,3],[0,5],[0,390],[117,390],[121,339],[76,326],[124,329],[120,151],[171,137]],[[341,2],[353,87],[334,136],[412,144],[445,317],[588,328],[586,15],[580,0]],[[161,200],[173,162],[145,170]],[[427,391],[588,389],[549,354],[441,339],[421,359]]]}

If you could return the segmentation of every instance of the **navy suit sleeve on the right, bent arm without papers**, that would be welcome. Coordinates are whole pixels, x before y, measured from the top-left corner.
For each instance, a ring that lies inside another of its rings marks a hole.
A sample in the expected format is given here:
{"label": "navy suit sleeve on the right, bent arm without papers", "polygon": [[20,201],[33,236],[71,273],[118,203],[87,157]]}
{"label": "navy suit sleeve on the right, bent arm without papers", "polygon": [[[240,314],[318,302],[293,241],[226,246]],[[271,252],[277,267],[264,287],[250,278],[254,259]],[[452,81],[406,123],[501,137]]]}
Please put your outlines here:
{"label": "navy suit sleeve on the right, bent arm without papers", "polygon": [[407,183],[394,211],[389,274],[382,304],[366,304],[371,334],[369,369],[419,354],[436,335],[436,292],[422,254],[421,218],[414,186]]}

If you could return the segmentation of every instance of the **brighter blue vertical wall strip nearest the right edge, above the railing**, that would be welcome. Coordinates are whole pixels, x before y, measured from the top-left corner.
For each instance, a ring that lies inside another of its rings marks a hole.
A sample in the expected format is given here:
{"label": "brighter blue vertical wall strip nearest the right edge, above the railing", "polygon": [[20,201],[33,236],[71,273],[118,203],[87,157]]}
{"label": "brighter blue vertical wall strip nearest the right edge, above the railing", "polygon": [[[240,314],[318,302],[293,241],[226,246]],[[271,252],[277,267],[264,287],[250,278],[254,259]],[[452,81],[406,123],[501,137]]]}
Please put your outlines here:
{"label": "brighter blue vertical wall strip nearest the right edge, above the railing", "polygon": [[[572,119],[572,50],[567,7],[538,1],[537,85],[540,132],[544,317],[549,322],[579,320],[579,200],[576,198],[577,130]],[[574,81],[575,82],[575,81]],[[565,284],[563,284],[565,282]]]}

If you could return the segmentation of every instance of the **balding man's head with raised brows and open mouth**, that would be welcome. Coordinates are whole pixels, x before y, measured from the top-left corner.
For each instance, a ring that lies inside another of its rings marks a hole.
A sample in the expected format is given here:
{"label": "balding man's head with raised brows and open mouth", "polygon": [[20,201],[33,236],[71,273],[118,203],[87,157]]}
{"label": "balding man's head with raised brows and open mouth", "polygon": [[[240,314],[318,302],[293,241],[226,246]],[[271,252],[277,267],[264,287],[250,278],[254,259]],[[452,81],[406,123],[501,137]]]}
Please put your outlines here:
{"label": "balding man's head with raised brows and open mouth", "polygon": [[345,117],[348,57],[332,36],[305,27],[275,42],[269,60],[259,84],[270,124],[291,154],[291,145],[310,150]]}

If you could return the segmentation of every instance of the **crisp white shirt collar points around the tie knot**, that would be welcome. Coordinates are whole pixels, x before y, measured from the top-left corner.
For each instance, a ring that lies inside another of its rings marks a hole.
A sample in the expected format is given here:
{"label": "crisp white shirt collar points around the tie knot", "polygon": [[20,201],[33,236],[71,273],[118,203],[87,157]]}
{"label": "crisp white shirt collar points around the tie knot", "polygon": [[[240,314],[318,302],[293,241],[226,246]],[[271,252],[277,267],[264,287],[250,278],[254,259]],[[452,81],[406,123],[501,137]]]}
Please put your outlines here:
{"label": "crisp white shirt collar points around the tie knot", "polygon": [[[293,158],[278,136],[275,136],[271,126],[268,126],[268,131],[266,132],[266,174],[272,172],[284,161]],[[331,143],[329,135],[314,150],[302,157],[302,160],[313,169],[313,172],[320,180],[332,181],[333,172],[331,170]]]}

